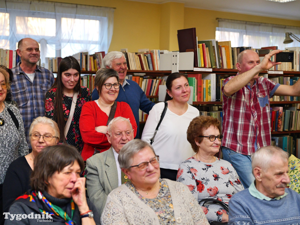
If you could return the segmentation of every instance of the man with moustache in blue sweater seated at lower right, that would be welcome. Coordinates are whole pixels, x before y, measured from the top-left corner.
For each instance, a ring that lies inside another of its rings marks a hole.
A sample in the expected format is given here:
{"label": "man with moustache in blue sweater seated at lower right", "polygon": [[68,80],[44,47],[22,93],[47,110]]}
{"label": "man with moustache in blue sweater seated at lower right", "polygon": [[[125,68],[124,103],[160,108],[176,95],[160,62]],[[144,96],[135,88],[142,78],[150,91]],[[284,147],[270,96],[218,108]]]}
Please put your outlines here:
{"label": "man with moustache in blue sweater seated at lower right", "polygon": [[255,181],[229,201],[229,225],[300,224],[300,195],[290,188],[287,152],[266,146],[251,155]]}

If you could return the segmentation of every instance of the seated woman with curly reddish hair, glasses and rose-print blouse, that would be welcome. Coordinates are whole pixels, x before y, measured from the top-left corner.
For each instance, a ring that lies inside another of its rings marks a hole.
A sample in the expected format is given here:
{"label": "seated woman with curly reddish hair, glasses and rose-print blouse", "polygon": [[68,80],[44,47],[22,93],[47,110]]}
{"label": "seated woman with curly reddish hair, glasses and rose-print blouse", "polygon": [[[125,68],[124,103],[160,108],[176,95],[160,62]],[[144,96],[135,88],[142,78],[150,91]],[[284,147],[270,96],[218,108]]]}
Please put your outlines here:
{"label": "seated woman with curly reddish hair, glasses and rose-print blouse", "polygon": [[187,129],[187,141],[196,154],[182,162],[177,173],[177,181],[187,185],[209,222],[227,222],[228,215],[217,203],[202,206],[202,199],[228,204],[233,194],[244,189],[232,165],[215,156],[222,138],[219,120],[210,116],[194,118]]}

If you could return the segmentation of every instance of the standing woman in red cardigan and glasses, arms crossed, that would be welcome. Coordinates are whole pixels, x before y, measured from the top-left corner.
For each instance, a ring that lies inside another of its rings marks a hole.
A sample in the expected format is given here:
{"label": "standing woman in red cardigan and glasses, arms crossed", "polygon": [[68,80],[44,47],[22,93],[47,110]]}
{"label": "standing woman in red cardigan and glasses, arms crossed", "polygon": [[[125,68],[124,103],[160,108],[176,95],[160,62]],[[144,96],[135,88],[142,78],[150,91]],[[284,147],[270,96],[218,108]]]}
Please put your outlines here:
{"label": "standing woman in red cardigan and glasses, arms crossed", "polygon": [[126,102],[116,102],[120,88],[118,72],[104,68],[98,70],[94,85],[99,92],[99,99],[83,105],[79,120],[84,142],[81,153],[83,160],[110,148],[111,144],[107,140],[106,132],[108,123],[114,117],[129,119],[134,129],[134,137],[137,134],[137,123],[130,106]]}

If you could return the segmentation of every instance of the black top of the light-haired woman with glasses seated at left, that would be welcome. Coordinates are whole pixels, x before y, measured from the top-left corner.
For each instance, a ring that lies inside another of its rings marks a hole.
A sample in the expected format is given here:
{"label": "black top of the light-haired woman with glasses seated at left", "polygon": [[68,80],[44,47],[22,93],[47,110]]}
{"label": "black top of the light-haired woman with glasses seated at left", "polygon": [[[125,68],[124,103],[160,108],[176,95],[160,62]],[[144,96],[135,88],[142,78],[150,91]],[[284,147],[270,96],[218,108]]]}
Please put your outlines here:
{"label": "black top of the light-haired woman with glasses seated at left", "polygon": [[8,212],[11,203],[31,189],[31,173],[32,169],[25,156],[17,158],[9,165],[3,183],[3,212]]}

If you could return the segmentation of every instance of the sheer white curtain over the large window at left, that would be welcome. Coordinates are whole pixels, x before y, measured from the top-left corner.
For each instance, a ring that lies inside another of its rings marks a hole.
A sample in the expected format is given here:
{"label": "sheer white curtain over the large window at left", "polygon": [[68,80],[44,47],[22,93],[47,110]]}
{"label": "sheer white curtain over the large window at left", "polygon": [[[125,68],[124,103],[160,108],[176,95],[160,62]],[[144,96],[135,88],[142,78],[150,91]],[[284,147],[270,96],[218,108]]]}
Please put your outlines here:
{"label": "sheer white curtain over the large window at left", "polygon": [[42,63],[77,52],[107,53],[113,13],[109,7],[0,0],[0,48],[16,50],[20,39],[30,37],[40,43]]}

